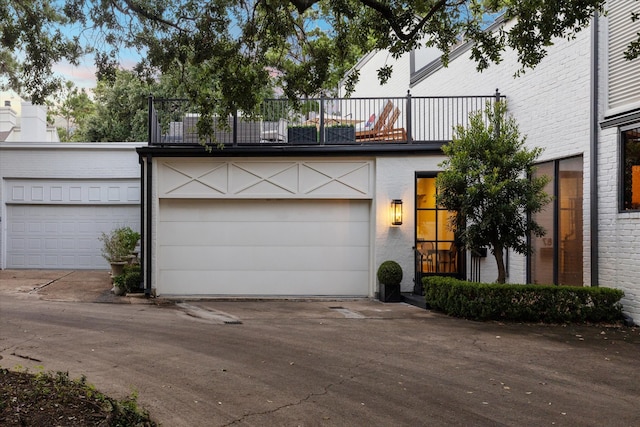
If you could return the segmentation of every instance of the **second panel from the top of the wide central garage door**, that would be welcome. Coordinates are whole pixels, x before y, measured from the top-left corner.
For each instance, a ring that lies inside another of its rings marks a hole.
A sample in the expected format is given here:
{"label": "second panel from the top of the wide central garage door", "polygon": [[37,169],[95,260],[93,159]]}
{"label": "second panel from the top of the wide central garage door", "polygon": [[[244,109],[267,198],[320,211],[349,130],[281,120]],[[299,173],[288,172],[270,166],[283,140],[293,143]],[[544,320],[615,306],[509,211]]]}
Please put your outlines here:
{"label": "second panel from the top of the wide central garage door", "polygon": [[367,222],[170,222],[163,225],[158,237],[161,245],[179,244],[184,235],[195,235],[197,246],[266,246],[273,242],[282,245],[329,246],[336,242],[369,244]]}

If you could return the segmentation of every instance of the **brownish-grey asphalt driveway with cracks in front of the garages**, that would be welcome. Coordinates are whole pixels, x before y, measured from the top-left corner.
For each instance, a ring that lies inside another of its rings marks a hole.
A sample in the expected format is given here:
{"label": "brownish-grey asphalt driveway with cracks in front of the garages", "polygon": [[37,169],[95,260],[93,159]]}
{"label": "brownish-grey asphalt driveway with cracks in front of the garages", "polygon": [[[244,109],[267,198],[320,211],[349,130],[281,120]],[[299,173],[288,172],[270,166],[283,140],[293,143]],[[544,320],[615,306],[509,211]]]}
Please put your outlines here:
{"label": "brownish-grey asphalt driveway with cracks in front of the garages", "polygon": [[640,425],[638,328],[109,288],[106,272],[0,271],[0,366],[135,390],[165,426]]}

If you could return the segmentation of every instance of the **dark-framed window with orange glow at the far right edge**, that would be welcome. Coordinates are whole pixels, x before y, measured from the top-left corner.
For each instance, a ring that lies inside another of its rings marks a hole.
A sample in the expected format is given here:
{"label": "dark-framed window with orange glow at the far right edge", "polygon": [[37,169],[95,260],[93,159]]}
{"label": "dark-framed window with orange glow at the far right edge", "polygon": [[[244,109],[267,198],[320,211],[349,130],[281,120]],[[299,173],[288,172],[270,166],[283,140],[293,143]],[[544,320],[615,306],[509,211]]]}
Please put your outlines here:
{"label": "dark-framed window with orange glow at the far right edge", "polygon": [[621,210],[640,209],[640,127],[622,131]]}

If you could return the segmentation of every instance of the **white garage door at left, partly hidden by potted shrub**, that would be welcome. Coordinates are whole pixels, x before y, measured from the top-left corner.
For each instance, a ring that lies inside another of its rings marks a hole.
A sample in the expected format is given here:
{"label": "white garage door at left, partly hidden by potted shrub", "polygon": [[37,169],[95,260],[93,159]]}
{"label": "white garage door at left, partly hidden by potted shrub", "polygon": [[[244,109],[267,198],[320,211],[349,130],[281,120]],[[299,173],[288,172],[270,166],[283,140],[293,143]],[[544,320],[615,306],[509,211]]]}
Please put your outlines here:
{"label": "white garage door at left, partly hidden by potted shrub", "polygon": [[102,231],[128,225],[140,229],[137,206],[7,206],[7,267],[107,269]]}

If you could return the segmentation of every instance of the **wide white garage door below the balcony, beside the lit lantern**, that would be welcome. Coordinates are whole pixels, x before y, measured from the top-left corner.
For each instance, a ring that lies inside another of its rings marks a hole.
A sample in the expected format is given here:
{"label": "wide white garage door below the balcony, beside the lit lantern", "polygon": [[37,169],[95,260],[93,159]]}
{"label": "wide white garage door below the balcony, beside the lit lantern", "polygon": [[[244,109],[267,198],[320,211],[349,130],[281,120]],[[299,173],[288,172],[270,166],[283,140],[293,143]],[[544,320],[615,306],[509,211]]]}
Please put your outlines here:
{"label": "wide white garage door below the balcony, beside the lit lantern", "polygon": [[369,295],[365,200],[160,201],[160,295]]}

